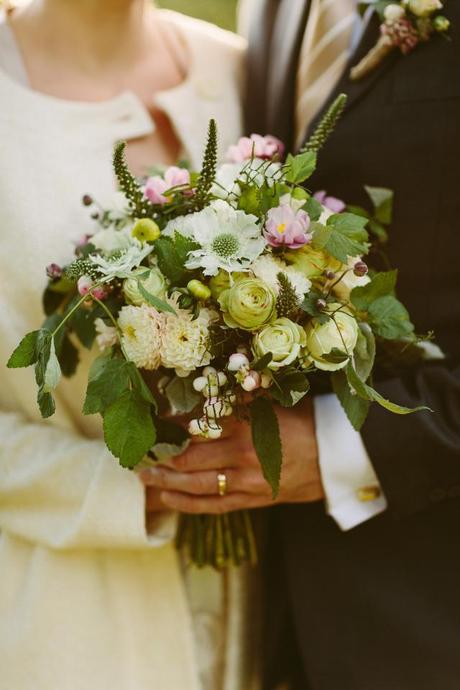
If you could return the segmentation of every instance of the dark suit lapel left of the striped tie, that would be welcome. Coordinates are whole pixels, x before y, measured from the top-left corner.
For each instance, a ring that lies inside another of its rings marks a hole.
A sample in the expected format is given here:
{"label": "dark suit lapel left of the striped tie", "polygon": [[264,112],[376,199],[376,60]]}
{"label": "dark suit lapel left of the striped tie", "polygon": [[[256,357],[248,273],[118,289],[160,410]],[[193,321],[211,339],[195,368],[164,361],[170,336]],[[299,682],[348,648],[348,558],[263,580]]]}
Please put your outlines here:
{"label": "dark suit lapel left of the striped tie", "polygon": [[267,84],[267,131],[290,148],[293,139],[295,85],[310,0],[282,0],[273,28]]}

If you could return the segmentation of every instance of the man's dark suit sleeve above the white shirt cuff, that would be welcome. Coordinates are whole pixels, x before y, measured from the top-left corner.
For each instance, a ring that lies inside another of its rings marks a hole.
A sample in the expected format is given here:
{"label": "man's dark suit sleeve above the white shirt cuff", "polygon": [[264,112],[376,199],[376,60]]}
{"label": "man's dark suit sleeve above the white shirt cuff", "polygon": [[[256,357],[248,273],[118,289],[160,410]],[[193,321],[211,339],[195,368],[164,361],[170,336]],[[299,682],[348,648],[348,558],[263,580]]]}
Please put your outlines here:
{"label": "man's dark suit sleeve above the white shirt cuff", "polygon": [[460,366],[430,365],[377,389],[399,404],[433,410],[399,416],[371,407],[362,437],[389,509],[402,517],[458,498]]}

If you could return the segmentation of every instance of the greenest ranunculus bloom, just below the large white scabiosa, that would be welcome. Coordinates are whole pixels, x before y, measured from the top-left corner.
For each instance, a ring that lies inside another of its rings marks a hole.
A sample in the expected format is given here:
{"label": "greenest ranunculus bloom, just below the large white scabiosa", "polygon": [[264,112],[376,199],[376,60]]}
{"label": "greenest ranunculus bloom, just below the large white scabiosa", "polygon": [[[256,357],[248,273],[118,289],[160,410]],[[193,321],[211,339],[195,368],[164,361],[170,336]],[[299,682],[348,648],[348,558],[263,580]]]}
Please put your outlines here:
{"label": "greenest ranunculus bloom, just below the large white scabiosa", "polygon": [[276,295],[258,278],[243,278],[219,297],[224,321],[230,328],[256,331],[276,317]]}

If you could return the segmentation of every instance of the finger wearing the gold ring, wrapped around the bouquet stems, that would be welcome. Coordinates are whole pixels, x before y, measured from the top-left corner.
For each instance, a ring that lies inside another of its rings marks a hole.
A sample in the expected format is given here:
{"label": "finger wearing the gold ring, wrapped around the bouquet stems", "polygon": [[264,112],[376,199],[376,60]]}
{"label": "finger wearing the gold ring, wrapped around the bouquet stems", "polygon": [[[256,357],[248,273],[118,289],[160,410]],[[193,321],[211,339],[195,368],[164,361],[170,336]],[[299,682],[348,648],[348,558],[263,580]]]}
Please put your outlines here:
{"label": "finger wearing the gold ring, wrapped around the bouquet stems", "polygon": [[[227,493],[244,492],[270,496],[270,487],[260,472],[248,470],[233,470],[225,468],[227,478]],[[178,491],[195,496],[215,496],[219,493],[218,472],[182,473],[166,467],[153,467],[145,470],[143,480],[145,484],[166,491]]]}

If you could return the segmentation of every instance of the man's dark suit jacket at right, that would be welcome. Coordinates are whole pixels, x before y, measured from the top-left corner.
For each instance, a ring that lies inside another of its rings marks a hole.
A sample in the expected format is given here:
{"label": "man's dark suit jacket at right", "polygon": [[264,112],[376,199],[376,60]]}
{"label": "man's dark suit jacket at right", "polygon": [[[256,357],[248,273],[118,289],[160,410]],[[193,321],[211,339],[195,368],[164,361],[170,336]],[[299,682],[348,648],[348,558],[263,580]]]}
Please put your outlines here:
{"label": "man's dark suit jacket at right", "polygon": [[[259,0],[261,12],[264,4],[272,17],[263,35],[255,24],[251,36],[247,129],[292,144],[309,3]],[[447,357],[377,386],[396,402],[434,411],[371,410],[362,435],[389,503],[385,514],[341,533],[319,505],[272,511],[270,600],[273,588],[278,602],[287,589],[290,649],[297,645],[303,661],[299,688],[460,687],[460,2],[445,4],[451,40],[434,36],[408,56],[395,51],[358,83],[347,69],[328,99],[348,93],[347,110],[309,182],[361,205],[364,184],[395,190],[387,253],[400,271],[399,297],[417,332],[433,329]],[[374,15],[350,65],[375,43],[378,24]],[[286,648],[271,606],[272,614],[270,660],[276,644]],[[268,664],[267,687],[276,666]]]}

